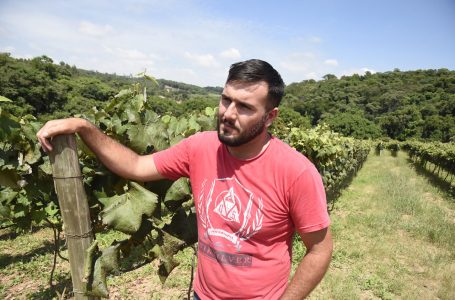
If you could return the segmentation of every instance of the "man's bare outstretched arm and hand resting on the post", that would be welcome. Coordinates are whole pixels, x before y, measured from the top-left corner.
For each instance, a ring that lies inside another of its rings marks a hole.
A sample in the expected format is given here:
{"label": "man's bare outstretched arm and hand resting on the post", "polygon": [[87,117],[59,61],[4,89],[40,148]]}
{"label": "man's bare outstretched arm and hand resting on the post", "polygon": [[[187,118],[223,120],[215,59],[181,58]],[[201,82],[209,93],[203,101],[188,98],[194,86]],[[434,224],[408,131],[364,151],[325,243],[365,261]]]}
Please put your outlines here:
{"label": "man's bare outstretched arm and hand resting on the post", "polygon": [[152,155],[138,155],[84,119],[69,118],[49,121],[36,136],[44,151],[50,152],[54,136],[71,133],[77,133],[98,159],[119,176],[137,181],[164,178],[158,173]]}

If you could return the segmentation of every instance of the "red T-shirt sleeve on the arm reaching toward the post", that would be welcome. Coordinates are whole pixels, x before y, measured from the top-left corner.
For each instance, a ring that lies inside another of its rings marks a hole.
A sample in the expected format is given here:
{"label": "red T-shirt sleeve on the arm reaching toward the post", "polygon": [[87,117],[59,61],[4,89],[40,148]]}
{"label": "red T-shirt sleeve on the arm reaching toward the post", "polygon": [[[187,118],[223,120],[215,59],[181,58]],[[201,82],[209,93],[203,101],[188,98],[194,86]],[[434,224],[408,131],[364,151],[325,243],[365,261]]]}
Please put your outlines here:
{"label": "red T-shirt sleeve on the arm reaching toward the post", "polygon": [[156,169],[162,176],[171,180],[189,177],[191,140],[192,136],[168,149],[153,154],[152,159],[155,162]]}

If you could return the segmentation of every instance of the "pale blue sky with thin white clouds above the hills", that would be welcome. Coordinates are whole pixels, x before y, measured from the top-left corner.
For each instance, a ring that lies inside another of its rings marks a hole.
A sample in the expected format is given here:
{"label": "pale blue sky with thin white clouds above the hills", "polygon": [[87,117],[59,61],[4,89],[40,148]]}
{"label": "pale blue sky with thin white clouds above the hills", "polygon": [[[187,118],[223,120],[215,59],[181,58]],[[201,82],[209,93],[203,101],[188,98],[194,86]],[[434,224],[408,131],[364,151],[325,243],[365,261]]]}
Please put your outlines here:
{"label": "pale blue sky with thin white clouds above the hills", "polygon": [[455,0],[0,0],[0,52],[199,86],[251,58],[286,84],[455,70]]}

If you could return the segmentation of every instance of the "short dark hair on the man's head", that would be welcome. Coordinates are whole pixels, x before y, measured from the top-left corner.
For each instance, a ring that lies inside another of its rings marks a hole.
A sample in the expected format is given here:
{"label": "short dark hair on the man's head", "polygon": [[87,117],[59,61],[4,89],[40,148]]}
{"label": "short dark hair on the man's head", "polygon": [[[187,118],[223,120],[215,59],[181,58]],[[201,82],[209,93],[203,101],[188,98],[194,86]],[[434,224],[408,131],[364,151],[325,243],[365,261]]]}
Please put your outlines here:
{"label": "short dark hair on the man's head", "polygon": [[284,82],[280,73],[263,60],[250,59],[232,64],[226,83],[233,81],[267,82],[269,87],[267,107],[269,109],[278,107],[284,95]]}

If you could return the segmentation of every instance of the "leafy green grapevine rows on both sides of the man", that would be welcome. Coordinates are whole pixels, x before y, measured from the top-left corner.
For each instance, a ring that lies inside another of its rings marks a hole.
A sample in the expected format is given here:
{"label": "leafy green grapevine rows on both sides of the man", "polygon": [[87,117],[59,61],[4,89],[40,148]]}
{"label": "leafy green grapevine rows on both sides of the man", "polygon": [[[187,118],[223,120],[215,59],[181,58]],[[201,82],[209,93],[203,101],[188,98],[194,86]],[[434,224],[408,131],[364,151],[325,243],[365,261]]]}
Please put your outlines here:
{"label": "leafy green grapevine rows on both sides of the man", "polygon": [[[136,84],[122,90],[104,108],[95,107],[82,117],[136,152],[148,154],[175,145],[196,132],[213,130],[216,115],[216,109],[210,107],[179,118],[159,115],[154,112],[154,104],[147,101],[142,87]],[[17,117],[1,107],[0,123],[0,227],[20,232],[50,226],[58,246],[64,227],[51,162],[35,136],[43,124],[31,115]],[[296,128],[286,120],[272,132],[316,165],[332,204],[360,170],[373,147],[372,142],[343,137],[324,126]],[[424,167],[431,163],[433,172],[444,172],[444,180],[452,184],[453,143],[390,145],[381,147],[409,151],[412,160]],[[78,149],[93,235],[114,230],[127,236],[104,249],[99,249],[96,241],[92,244],[86,256],[85,292],[108,297],[106,276],[153,260],[158,261],[157,272],[164,282],[178,264],[174,256],[197,241],[189,181],[127,181],[102,166],[81,141],[78,141]],[[56,247],[55,256],[61,250]]]}

